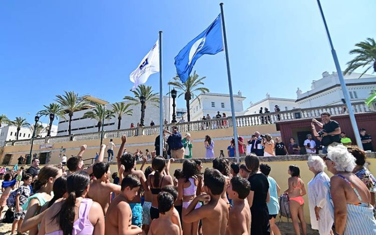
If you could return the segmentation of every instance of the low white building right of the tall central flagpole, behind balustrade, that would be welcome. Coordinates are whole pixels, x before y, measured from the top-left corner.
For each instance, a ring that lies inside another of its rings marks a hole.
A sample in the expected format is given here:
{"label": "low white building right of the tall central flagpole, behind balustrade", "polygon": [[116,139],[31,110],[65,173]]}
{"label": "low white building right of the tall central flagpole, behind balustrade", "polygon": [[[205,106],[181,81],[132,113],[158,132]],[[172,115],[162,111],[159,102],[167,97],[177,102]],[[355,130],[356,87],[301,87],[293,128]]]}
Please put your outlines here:
{"label": "low white building right of the tall central flagpole, behind balustrade", "polygon": [[265,108],[267,108],[270,112],[274,112],[276,105],[279,106],[279,109],[281,111],[291,110],[299,107],[299,105],[295,103],[295,99],[270,97],[269,93],[267,93],[265,99],[260,100],[256,103],[251,102],[250,107],[245,112],[245,115],[258,114],[260,112],[260,108],[263,108],[263,113],[265,112]]}

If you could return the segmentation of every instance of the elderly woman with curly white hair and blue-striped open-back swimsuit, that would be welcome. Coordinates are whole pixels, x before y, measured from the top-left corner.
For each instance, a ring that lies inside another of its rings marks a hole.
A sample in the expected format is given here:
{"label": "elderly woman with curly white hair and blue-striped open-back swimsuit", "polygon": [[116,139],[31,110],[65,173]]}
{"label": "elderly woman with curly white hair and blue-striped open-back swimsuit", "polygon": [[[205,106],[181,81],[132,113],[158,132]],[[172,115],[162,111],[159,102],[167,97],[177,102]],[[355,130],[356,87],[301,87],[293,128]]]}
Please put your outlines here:
{"label": "elderly woman with curly white hair and blue-striped open-back swimsuit", "polygon": [[324,157],[330,178],[337,234],[376,234],[371,195],[365,184],[352,173],[355,158],[343,145],[328,148]]}

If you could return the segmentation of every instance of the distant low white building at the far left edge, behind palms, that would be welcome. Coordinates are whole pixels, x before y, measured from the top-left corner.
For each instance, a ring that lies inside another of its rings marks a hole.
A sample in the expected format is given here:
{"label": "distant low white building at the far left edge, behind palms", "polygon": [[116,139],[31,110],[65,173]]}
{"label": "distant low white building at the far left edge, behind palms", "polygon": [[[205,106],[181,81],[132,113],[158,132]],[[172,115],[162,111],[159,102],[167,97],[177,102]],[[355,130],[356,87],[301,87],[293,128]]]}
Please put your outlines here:
{"label": "distant low white building at the far left edge, behind palms", "polygon": [[[43,131],[40,133],[40,136],[38,138],[44,138],[47,136],[46,127],[48,127],[49,124],[42,123],[42,126],[43,126]],[[51,136],[56,136],[57,132],[58,132],[58,126],[52,125]],[[33,132],[30,128],[21,128],[18,139],[19,140],[30,139],[32,138],[32,136],[33,136]],[[17,127],[16,126],[6,125],[0,128],[0,146],[2,145],[2,143],[4,143],[4,141],[12,141],[16,139],[17,139]]]}

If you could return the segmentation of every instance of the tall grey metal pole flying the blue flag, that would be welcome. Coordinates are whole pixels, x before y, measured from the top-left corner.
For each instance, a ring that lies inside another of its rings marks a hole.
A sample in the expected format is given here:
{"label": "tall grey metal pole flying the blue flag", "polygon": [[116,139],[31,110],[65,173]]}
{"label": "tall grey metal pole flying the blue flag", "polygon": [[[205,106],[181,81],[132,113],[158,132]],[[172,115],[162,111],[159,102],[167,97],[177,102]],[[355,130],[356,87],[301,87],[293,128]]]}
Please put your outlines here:
{"label": "tall grey metal pole flying the blue flag", "polygon": [[232,82],[231,82],[229,51],[228,51],[228,48],[227,48],[227,37],[226,37],[226,27],[225,27],[225,16],[223,14],[223,3],[220,3],[220,6],[221,6],[221,16],[222,16],[223,39],[224,39],[224,42],[225,42],[227,77],[229,78],[230,103],[231,103],[231,115],[232,115],[232,119],[233,119],[233,128],[234,128],[234,140],[235,140],[234,144],[235,144],[235,150],[236,150],[236,162],[239,163],[240,162],[240,154],[239,154],[239,144],[238,144],[238,131],[237,131],[237,128],[236,128],[233,85],[232,85]]}

